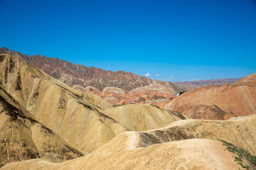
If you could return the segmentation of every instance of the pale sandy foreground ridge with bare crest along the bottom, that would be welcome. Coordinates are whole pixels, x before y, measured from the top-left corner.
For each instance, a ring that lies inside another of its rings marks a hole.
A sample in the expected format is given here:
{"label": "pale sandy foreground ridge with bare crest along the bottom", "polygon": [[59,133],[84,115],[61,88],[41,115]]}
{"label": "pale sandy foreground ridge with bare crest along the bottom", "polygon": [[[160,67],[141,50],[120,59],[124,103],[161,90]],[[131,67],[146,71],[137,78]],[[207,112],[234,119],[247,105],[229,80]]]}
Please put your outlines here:
{"label": "pale sandy foreground ridge with bare crest along the bottom", "polygon": [[89,155],[71,161],[34,159],[9,163],[2,170],[237,170],[242,168],[234,155],[222,142],[210,138],[226,140],[255,154],[255,128],[256,115],[228,121],[180,120],[160,129],[124,132]]}

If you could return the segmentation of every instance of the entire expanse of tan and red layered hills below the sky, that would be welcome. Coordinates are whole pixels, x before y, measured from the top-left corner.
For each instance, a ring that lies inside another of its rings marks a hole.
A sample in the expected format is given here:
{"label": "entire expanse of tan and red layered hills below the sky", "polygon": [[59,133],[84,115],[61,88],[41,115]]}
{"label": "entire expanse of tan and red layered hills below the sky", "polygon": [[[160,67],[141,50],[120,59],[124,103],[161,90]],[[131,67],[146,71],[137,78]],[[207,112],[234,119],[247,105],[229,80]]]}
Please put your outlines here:
{"label": "entire expanse of tan and red layered hills below the sky", "polygon": [[1,170],[256,168],[256,74],[174,96],[170,82],[3,52]]}

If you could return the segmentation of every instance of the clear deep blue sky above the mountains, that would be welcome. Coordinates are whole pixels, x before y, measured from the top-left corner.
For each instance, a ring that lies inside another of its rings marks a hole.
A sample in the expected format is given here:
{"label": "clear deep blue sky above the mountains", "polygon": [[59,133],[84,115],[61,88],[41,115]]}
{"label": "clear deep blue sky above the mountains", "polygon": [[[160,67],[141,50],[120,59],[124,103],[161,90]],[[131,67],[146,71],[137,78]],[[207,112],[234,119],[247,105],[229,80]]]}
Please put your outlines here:
{"label": "clear deep blue sky above the mountains", "polygon": [[0,0],[0,16],[0,47],[28,55],[166,81],[256,72],[255,0]]}

